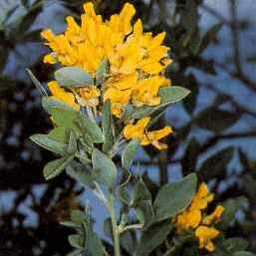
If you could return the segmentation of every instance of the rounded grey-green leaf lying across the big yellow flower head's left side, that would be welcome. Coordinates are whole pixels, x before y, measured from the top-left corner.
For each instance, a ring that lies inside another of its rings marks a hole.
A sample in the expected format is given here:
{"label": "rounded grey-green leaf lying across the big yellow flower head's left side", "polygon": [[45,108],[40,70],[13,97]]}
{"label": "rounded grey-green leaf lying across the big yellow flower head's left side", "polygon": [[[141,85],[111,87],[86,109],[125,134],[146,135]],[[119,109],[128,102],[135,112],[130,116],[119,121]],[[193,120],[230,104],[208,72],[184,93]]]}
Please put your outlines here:
{"label": "rounded grey-green leaf lying across the big yellow flower head's left side", "polygon": [[55,72],[58,84],[65,88],[86,87],[94,85],[93,78],[83,69],[64,67]]}

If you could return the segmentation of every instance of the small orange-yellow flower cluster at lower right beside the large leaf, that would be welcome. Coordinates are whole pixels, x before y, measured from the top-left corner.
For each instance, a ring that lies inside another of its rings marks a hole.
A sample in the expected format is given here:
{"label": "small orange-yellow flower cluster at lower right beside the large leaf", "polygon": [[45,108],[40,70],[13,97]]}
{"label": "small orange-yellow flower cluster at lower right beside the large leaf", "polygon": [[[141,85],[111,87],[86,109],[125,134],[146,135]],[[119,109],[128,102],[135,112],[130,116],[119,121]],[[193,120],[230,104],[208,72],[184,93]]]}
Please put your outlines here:
{"label": "small orange-yellow flower cluster at lower right beside the large leaf", "polygon": [[224,211],[224,207],[218,205],[210,215],[203,214],[203,210],[207,208],[208,203],[213,198],[214,196],[209,193],[207,185],[202,183],[190,205],[172,219],[178,232],[194,230],[199,241],[199,248],[205,248],[208,251],[215,249],[212,240],[220,234],[219,230],[211,225],[219,220]]}

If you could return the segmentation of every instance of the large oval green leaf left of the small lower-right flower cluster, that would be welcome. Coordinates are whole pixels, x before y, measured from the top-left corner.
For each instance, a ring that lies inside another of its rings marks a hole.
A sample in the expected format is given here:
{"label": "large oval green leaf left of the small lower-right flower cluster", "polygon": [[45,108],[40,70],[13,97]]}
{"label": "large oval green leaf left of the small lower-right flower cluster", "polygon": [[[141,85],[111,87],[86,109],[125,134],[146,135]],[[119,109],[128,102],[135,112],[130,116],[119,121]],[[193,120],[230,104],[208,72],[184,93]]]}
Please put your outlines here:
{"label": "large oval green leaf left of the small lower-right flower cluster", "polygon": [[196,192],[196,180],[192,173],[180,181],[162,186],[153,203],[155,220],[170,218],[186,208]]}

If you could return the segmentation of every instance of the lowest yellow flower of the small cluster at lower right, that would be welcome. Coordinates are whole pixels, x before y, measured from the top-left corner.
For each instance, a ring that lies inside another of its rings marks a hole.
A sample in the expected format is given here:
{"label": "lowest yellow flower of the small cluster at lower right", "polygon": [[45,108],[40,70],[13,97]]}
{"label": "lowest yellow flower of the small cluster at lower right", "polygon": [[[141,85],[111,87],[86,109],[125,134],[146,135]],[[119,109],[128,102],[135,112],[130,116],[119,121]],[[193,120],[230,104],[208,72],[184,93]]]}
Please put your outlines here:
{"label": "lowest yellow flower of the small cluster at lower right", "polygon": [[219,234],[220,232],[212,227],[199,226],[198,228],[196,228],[195,236],[199,240],[199,248],[205,248],[209,252],[214,251],[215,247],[212,240],[216,238]]}

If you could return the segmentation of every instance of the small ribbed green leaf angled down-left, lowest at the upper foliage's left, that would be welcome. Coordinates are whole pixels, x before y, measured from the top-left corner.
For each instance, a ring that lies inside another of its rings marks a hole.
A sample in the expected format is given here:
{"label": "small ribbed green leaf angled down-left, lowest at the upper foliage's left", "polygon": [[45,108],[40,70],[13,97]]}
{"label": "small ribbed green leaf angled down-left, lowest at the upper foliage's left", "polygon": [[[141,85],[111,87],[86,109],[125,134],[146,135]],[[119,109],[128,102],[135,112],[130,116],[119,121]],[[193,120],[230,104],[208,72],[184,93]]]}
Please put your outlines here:
{"label": "small ribbed green leaf angled down-left, lowest at the upper foliage's left", "polygon": [[71,155],[48,162],[43,170],[45,179],[48,180],[59,175],[73,158],[74,156]]}

